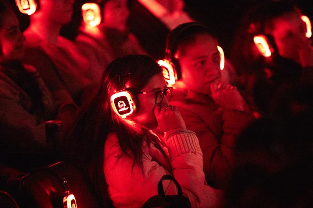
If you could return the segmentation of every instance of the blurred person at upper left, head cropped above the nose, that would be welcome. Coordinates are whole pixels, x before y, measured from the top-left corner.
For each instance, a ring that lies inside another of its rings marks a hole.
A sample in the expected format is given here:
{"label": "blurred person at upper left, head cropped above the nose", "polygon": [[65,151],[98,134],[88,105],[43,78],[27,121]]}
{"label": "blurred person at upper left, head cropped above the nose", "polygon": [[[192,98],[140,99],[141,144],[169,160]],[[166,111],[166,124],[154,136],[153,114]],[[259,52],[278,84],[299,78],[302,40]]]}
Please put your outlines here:
{"label": "blurred person at upper left, head cropped above the nose", "polygon": [[25,61],[38,69],[50,91],[55,91],[55,85],[63,85],[80,105],[91,83],[89,61],[73,42],[59,36],[61,27],[71,20],[73,3],[73,0],[38,1],[38,11],[30,15],[30,25],[24,31]]}

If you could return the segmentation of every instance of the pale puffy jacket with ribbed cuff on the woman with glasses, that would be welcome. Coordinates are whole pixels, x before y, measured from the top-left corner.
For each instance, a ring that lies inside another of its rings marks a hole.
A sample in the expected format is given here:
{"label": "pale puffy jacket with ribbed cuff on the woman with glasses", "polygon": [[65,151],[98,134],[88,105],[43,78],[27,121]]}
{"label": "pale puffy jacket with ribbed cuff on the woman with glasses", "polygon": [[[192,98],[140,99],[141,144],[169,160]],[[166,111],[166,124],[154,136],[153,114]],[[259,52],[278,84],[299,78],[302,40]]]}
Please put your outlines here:
{"label": "pale puffy jacket with ribbed cuff on the woman with glasses", "polygon": [[[183,194],[189,198],[193,207],[216,205],[215,190],[204,185],[202,156],[197,141],[194,132],[188,130],[169,131],[167,136],[168,159],[171,161],[172,170],[167,170],[153,161],[149,154],[149,148],[145,146],[142,172],[137,165],[132,168],[133,158],[121,154],[116,136],[111,135],[105,144],[104,172],[114,205],[117,207],[142,206],[151,196],[157,195],[157,183],[163,175],[170,174],[169,171],[173,173],[182,187]],[[178,143],[186,148],[174,147]],[[167,195],[177,194],[175,184],[164,184],[164,187],[167,187],[165,188]]]}

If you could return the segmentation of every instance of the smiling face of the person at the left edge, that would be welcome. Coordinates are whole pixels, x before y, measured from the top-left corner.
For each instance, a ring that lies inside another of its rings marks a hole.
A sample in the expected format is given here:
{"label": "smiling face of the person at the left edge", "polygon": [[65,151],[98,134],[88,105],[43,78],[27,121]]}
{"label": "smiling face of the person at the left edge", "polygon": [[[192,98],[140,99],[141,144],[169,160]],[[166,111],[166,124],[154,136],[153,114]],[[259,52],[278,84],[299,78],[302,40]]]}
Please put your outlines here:
{"label": "smiling face of the person at the left edge", "polygon": [[12,12],[5,12],[0,28],[1,62],[18,61],[24,57],[25,37],[19,29],[18,18]]}

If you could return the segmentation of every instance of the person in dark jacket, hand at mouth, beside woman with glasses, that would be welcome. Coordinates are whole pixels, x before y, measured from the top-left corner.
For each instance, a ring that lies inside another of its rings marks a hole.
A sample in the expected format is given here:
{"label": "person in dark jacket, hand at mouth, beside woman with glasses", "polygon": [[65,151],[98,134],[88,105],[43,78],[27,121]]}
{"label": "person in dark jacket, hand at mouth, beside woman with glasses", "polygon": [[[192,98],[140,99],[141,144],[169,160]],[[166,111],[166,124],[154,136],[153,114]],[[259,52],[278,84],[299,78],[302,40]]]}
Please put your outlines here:
{"label": "person in dark jacket, hand at mouth, beside woman with glasses", "polygon": [[233,166],[234,142],[254,117],[236,87],[221,82],[220,53],[212,34],[197,22],[182,24],[167,37],[166,57],[181,79],[174,84],[171,104],[197,133],[208,184],[222,188]]}

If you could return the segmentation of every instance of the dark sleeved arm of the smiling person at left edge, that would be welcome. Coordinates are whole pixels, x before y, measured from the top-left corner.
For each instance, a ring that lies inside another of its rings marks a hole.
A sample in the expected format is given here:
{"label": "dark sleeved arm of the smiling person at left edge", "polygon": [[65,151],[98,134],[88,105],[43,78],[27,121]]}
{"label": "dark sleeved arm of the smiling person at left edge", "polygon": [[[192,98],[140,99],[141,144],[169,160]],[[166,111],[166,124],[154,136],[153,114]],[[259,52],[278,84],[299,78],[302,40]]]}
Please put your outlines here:
{"label": "dark sleeved arm of the smiling person at left edge", "polygon": [[[45,122],[38,121],[19,102],[22,98],[2,87],[0,91],[0,123],[3,148],[13,151],[43,151],[46,146]],[[39,122],[39,123],[38,123]]]}

